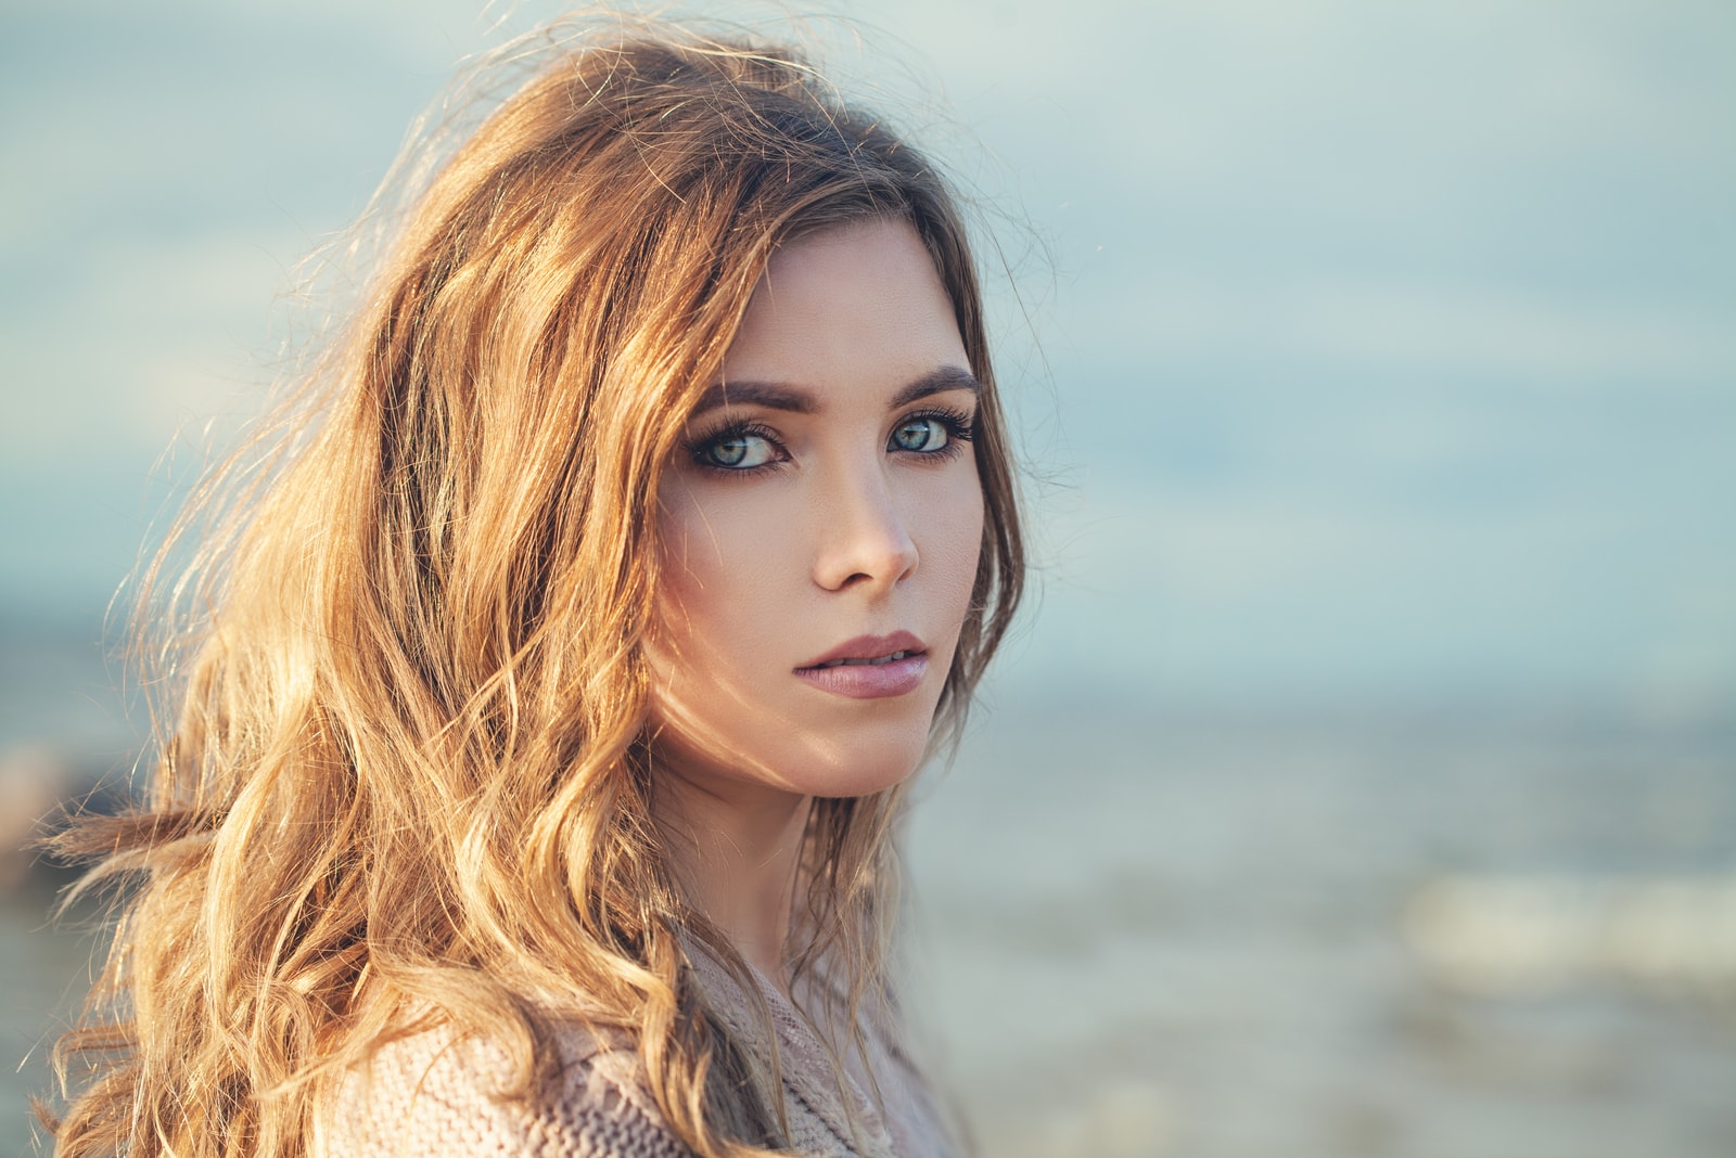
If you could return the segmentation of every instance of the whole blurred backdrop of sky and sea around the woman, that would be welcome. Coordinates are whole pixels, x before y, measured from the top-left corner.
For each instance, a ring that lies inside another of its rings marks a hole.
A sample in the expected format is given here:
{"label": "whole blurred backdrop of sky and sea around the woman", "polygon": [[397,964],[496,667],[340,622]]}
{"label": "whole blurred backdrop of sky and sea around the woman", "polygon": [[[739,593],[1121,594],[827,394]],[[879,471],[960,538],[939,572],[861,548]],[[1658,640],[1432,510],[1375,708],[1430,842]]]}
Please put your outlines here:
{"label": "whole blurred backdrop of sky and sea around the woman", "polygon": [[[92,950],[17,849],[144,728],[109,600],[295,263],[554,10],[5,3],[0,1155]],[[828,12],[998,239],[1029,466],[910,834],[983,1153],[1736,1153],[1736,7]]]}

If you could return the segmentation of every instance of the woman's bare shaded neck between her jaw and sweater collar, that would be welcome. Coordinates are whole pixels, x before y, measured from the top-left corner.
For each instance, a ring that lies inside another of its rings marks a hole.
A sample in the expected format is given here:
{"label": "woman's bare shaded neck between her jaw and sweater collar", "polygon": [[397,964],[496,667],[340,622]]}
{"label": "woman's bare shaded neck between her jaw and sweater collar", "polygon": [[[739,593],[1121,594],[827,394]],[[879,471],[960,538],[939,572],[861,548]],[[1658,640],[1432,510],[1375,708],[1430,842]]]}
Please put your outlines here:
{"label": "woman's bare shaded neck between her jaw and sweater collar", "polygon": [[785,943],[812,797],[720,771],[658,771],[653,815],[687,903],[786,988]]}

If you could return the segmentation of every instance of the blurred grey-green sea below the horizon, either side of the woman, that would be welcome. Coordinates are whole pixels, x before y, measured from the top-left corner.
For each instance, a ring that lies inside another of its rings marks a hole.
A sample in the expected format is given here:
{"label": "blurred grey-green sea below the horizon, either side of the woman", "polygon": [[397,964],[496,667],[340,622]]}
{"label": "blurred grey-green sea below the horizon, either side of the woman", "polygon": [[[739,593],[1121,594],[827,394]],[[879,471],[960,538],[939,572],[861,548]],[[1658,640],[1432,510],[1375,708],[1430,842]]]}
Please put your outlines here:
{"label": "blurred grey-green sea below the horizon, either side of the woman", "polygon": [[[9,643],[17,816],[127,733],[94,648]],[[1724,1158],[1733,758],[1611,718],[991,697],[910,832],[920,1047],[995,1158]],[[36,1153],[89,985],[52,886],[0,901],[0,1155]]]}

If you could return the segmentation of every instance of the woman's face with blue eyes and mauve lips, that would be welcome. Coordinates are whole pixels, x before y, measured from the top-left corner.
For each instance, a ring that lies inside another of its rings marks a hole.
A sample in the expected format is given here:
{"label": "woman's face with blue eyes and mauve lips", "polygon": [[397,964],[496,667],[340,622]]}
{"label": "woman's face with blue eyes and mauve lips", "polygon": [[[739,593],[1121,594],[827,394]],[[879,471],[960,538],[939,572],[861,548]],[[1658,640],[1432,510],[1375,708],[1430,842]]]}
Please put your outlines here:
{"label": "woman's face with blue eyes and mauve lips", "polygon": [[660,494],[665,763],[812,796],[915,770],[976,581],[976,407],[906,222],[771,258]]}

